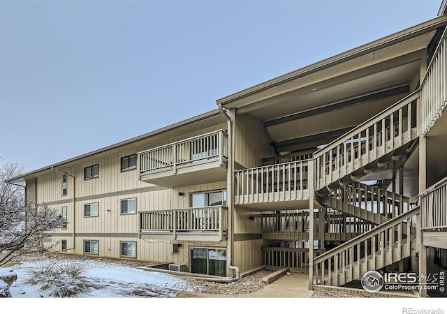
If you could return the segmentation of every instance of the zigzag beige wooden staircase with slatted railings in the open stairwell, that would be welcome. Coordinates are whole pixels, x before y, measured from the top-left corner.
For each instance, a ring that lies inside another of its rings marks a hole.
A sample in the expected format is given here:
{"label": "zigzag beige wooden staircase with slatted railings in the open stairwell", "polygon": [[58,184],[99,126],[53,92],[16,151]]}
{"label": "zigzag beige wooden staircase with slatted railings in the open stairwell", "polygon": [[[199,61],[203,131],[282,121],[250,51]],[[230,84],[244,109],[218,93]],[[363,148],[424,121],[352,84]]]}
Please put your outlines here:
{"label": "zigzag beige wooden staircase with slatted railings in the open stairwell", "polygon": [[358,179],[409,154],[419,96],[415,91],[314,154],[318,202],[375,225],[314,258],[314,285],[345,285],[416,252],[419,209],[410,209],[409,197]]}

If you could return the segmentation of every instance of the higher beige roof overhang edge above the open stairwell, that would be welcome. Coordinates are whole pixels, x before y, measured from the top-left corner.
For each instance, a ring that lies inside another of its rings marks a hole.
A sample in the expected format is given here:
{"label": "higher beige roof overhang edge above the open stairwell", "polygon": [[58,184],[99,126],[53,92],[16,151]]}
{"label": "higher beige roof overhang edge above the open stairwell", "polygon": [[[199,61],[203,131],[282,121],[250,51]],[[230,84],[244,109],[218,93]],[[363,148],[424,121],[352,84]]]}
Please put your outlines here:
{"label": "higher beige roof overhang edge above the open stairwell", "polygon": [[220,98],[217,103],[227,109],[236,108],[242,113],[244,106],[254,106],[262,103],[263,100],[265,102],[268,98],[309,87],[318,80],[339,77],[344,73],[356,70],[356,68],[373,66],[387,58],[397,57],[402,52],[402,48],[406,49],[406,52],[420,50],[423,45],[427,45],[427,40],[432,38],[437,29],[446,24],[447,16],[436,17],[372,43],[337,54],[335,57]]}

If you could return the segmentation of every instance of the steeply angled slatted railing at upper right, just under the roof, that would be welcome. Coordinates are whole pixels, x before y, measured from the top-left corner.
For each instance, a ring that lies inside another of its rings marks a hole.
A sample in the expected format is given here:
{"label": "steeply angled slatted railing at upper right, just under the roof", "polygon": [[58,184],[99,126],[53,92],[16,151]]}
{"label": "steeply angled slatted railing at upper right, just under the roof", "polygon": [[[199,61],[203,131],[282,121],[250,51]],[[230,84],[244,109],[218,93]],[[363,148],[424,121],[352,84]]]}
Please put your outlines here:
{"label": "steeply angled slatted railing at upper right, just under the roof", "polygon": [[420,84],[420,129],[426,135],[447,105],[447,29],[439,41],[427,73]]}

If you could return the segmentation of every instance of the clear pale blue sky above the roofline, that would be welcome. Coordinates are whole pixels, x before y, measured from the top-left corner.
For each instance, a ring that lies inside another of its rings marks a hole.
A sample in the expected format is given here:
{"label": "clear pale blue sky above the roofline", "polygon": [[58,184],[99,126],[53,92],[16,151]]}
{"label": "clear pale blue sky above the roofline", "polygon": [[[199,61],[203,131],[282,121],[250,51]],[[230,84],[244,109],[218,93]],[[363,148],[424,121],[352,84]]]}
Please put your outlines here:
{"label": "clear pale blue sky above the roofline", "polygon": [[26,171],[437,16],[425,1],[0,1],[0,156]]}

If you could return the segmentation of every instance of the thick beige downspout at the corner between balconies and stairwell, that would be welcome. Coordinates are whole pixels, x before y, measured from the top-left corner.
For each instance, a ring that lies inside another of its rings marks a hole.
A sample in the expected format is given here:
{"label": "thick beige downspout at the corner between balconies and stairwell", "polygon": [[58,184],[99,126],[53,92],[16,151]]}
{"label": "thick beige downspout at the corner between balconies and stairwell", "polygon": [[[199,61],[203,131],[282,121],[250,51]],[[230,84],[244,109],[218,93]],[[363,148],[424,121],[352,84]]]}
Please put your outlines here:
{"label": "thick beige downspout at the corner between balconies and stairwell", "polygon": [[[227,143],[227,176],[226,176],[226,190],[227,190],[227,207],[228,207],[228,223],[227,223],[227,259],[226,264],[228,269],[233,269],[236,271],[236,276],[231,278],[230,281],[237,281],[240,278],[240,270],[238,267],[233,265],[233,256],[234,256],[234,248],[233,248],[233,232],[234,232],[234,196],[233,196],[233,175],[234,175],[234,145],[233,145],[233,127],[234,121],[230,118],[230,116],[226,113],[226,110],[222,108],[221,103],[217,103],[217,107],[219,108],[219,112],[223,114],[228,125],[228,143]],[[229,255],[229,256],[228,256]]]}

